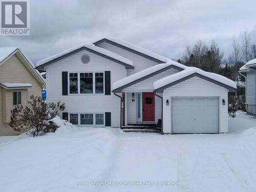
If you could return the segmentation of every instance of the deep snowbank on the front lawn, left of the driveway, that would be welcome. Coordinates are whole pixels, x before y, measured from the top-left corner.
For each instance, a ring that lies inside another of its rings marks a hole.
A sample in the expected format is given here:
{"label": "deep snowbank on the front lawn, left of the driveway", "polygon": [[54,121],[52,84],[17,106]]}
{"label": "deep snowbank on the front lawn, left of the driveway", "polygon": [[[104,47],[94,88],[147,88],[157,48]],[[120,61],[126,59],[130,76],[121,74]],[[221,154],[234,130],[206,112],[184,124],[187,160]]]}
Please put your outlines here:
{"label": "deep snowbank on the front lawn, left of the driveway", "polygon": [[55,133],[1,143],[1,191],[96,191],[100,186],[77,183],[108,180],[120,146],[116,135],[53,121],[60,126]]}

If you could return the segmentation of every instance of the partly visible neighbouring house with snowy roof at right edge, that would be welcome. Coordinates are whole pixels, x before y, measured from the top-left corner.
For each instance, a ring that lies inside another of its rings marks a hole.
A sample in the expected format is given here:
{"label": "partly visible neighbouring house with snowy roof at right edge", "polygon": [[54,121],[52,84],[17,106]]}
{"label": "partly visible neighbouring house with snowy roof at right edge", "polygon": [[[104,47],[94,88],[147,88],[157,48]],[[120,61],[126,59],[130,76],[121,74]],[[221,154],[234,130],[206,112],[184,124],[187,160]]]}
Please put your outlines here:
{"label": "partly visible neighbouring house with snowy roof at right edge", "polygon": [[239,73],[245,77],[245,101],[247,114],[256,115],[256,59],[248,61]]}

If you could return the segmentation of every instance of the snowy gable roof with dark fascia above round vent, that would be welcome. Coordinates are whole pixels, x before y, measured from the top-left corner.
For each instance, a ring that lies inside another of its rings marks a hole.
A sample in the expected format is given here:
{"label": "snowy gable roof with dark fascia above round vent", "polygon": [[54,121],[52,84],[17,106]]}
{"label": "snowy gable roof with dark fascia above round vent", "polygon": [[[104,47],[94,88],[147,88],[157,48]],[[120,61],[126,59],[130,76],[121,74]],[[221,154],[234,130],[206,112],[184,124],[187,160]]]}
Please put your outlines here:
{"label": "snowy gable roof with dark fascia above round vent", "polygon": [[120,55],[117,55],[116,53],[113,53],[109,50],[102,49],[100,47],[97,47],[93,44],[86,44],[86,45],[80,45],[73,47],[71,49],[68,49],[66,51],[62,51],[58,54],[55,54],[53,56],[50,56],[48,58],[42,59],[40,61],[37,61],[36,63],[36,69],[44,70],[44,68],[48,65],[51,65],[54,62],[57,62],[61,59],[64,59],[66,57],[69,57],[75,53],[78,53],[82,50],[87,50],[89,52],[92,52],[94,54],[97,54],[99,56],[105,57],[107,59],[110,59],[114,62],[119,63],[120,65],[125,66],[126,69],[133,69],[133,62],[127,58],[124,58]]}

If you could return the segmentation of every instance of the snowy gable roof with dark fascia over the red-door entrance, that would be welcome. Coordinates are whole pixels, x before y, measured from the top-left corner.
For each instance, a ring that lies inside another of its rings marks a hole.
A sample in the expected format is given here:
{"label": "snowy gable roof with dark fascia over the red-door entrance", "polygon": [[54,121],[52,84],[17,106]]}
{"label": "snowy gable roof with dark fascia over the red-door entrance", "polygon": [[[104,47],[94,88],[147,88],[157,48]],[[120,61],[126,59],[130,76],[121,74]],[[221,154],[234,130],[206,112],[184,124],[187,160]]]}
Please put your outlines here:
{"label": "snowy gable roof with dark fascia over the red-door entrance", "polygon": [[174,61],[168,59],[167,63],[161,63],[158,65],[155,65],[151,68],[144,69],[142,71],[139,71],[133,75],[130,75],[128,77],[125,77],[123,79],[120,79],[113,84],[113,92],[121,92],[121,90],[132,86],[133,84],[136,84],[140,81],[143,81],[147,78],[150,78],[154,75],[157,75],[159,73],[162,73],[163,71],[166,71],[168,69],[176,69],[178,71],[182,71],[186,69],[186,66]]}

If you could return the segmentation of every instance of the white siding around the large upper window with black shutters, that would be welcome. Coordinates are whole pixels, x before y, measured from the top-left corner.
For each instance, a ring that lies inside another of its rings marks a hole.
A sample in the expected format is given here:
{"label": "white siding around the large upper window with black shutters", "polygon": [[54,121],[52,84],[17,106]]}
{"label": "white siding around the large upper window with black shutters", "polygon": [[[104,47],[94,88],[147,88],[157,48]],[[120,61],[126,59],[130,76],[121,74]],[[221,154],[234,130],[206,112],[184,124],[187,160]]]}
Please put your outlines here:
{"label": "white siding around the large upper window with black shutters", "polygon": [[[81,56],[88,54],[90,62],[81,62]],[[126,77],[124,66],[93,54],[81,51],[47,67],[47,101],[65,103],[65,112],[69,113],[105,113],[111,112],[111,126],[120,124],[120,98],[104,94],[72,94],[62,95],[62,71],[68,72],[104,72],[111,71],[111,90],[115,81]]]}

